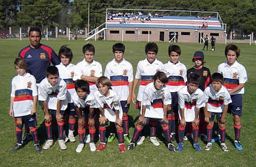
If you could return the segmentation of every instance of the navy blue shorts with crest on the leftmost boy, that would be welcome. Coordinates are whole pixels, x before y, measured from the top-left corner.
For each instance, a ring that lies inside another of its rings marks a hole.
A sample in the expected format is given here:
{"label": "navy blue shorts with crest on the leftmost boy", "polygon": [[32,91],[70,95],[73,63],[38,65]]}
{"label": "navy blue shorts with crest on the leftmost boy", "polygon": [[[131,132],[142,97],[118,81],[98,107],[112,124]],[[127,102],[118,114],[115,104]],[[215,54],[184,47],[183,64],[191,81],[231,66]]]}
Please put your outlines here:
{"label": "navy blue shorts with crest on the leftmost boy", "polygon": [[22,129],[23,124],[26,127],[37,127],[37,114],[14,117],[16,127]]}

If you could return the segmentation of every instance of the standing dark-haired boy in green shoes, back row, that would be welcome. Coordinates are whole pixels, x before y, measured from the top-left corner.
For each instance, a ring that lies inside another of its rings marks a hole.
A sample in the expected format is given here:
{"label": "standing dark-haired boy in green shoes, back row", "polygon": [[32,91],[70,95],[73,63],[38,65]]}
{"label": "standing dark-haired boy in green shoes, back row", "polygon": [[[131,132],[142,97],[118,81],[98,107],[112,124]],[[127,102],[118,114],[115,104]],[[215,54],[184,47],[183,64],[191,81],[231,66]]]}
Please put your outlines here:
{"label": "standing dark-haired boy in green shoes, back row", "polygon": [[[105,76],[112,83],[112,90],[114,90],[120,97],[120,103],[123,110],[123,134],[124,140],[128,143],[132,139],[129,136],[129,122],[128,110],[130,102],[132,101],[132,88],[133,88],[133,65],[123,58],[125,46],[122,43],[117,43],[112,46],[114,59],[106,64]],[[114,124],[111,124],[114,127]],[[108,142],[115,139],[115,134],[110,133]]]}

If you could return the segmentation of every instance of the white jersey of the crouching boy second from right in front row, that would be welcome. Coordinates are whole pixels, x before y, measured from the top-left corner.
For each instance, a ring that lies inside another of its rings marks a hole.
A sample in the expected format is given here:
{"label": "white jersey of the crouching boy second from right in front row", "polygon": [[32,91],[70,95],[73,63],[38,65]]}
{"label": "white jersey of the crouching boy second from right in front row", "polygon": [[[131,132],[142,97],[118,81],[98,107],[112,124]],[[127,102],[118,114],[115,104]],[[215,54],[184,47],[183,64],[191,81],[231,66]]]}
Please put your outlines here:
{"label": "white jersey of the crouching boy second from right in front row", "polygon": [[178,91],[178,116],[181,120],[181,109],[184,109],[184,117],[186,122],[195,120],[195,109],[203,108],[204,92],[199,88],[192,94],[188,93],[188,86],[184,86]]}

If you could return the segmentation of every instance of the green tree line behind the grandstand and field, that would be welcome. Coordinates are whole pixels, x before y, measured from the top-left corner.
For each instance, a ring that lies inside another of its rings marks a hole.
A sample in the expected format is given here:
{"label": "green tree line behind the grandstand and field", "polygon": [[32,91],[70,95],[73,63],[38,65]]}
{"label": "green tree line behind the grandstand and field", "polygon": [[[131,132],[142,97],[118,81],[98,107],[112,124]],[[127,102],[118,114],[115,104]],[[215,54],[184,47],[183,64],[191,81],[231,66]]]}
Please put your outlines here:
{"label": "green tree line behind the grandstand and field", "polygon": [[242,34],[256,30],[254,0],[0,0],[0,29],[28,26],[84,29],[88,26],[89,3],[90,29],[105,22],[106,8],[122,8],[217,11],[227,23],[228,32]]}

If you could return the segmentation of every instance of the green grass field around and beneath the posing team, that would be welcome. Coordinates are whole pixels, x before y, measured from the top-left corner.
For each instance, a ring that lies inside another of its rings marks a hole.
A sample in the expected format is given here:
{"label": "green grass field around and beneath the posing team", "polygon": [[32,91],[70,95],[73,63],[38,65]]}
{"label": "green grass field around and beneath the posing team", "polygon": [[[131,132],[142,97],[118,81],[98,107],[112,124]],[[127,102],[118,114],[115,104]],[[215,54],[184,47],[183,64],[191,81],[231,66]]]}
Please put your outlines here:
{"label": "green grass field around and beneath the posing team", "polygon": [[[77,41],[68,41],[67,39],[50,39],[48,41],[41,40],[41,43],[51,46],[56,52],[61,45],[68,44],[73,51],[73,64],[82,60],[82,46],[88,43],[82,39]],[[96,47],[96,55],[94,59],[102,63],[103,70],[106,63],[113,58],[112,45],[115,41],[90,41]],[[247,69],[248,82],[246,84],[246,93],[243,96],[243,116],[241,143],[243,151],[237,151],[233,145],[234,128],[231,115],[227,116],[227,145],[229,152],[223,152],[218,144],[213,144],[211,151],[196,152],[189,141],[184,141],[184,150],[182,152],[170,153],[161,142],[156,147],[146,138],[143,145],[135,148],[134,151],[120,153],[118,151],[118,142],[115,140],[107,145],[106,150],[102,152],[90,152],[88,145],[85,145],[81,153],[76,153],[75,143],[68,142],[66,151],[61,151],[57,143],[50,150],[43,150],[40,153],[34,152],[33,142],[29,142],[25,147],[17,152],[11,152],[11,148],[15,145],[15,124],[14,118],[9,116],[9,94],[10,82],[16,75],[14,70],[14,59],[20,49],[29,44],[29,40],[19,41],[17,39],[0,40],[1,65],[0,65],[0,104],[2,106],[0,112],[0,166],[255,166],[256,164],[256,110],[254,108],[254,96],[256,94],[256,46],[249,44],[237,44],[241,49],[239,62],[245,65]],[[134,71],[139,60],[145,58],[146,43],[125,42],[126,53],[124,58],[133,64]],[[168,43],[157,43],[159,52],[157,58],[166,63],[168,57]],[[195,51],[201,50],[203,45],[200,44],[184,44],[180,45],[181,62],[186,64],[187,68],[193,66],[192,56]],[[216,44],[216,51],[204,51],[205,66],[210,68],[211,73],[217,70],[217,65],[225,61],[224,44]],[[134,74],[135,75],[135,74]],[[135,106],[131,105],[129,115],[135,118],[138,111]],[[38,106],[38,128],[40,132],[39,138],[44,141],[44,116],[43,111]],[[131,127],[129,132],[133,134],[134,128]],[[78,136],[76,136],[78,139]],[[41,143],[43,144],[43,143]],[[174,143],[177,145],[176,142]],[[205,144],[199,141],[204,148]],[[98,143],[96,144],[98,146]],[[127,145],[126,145],[127,146]]]}

